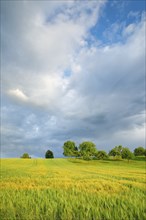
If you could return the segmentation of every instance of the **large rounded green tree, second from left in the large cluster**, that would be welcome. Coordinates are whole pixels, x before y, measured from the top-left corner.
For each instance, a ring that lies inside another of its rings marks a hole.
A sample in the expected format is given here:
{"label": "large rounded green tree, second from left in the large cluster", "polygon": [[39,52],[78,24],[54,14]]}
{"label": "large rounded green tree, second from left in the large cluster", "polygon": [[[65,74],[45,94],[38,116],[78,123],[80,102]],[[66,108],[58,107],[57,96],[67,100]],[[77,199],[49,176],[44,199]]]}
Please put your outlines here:
{"label": "large rounded green tree, second from left in the large cluster", "polygon": [[90,160],[97,153],[96,145],[92,142],[83,142],[79,145],[80,155],[85,160]]}

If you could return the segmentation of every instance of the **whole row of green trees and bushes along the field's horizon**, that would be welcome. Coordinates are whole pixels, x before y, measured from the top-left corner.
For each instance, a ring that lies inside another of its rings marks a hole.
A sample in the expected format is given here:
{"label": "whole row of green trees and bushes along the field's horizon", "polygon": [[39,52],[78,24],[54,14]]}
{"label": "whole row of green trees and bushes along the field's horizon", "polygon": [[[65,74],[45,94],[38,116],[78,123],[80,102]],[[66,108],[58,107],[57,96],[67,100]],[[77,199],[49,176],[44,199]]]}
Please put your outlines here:
{"label": "whole row of green trees and bushes along the field's horizon", "polygon": [[[91,141],[85,141],[79,144],[77,147],[74,141],[66,141],[63,145],[63,155],[66,157],[76,157],[83,160],[92,159],[108,159],[109,157],[115,159],[133,159],[135,156],[146,156],[146,149],[143,147],[137,147],[133,152],[128,147],[122,145],[115,146],[107,154],[104,150],[97,150],[96,145]],[[21,158],[31,158],[28,153],[24,153]],[[45,158],[54,158],[54,154],[51,150],[47,150]]]}

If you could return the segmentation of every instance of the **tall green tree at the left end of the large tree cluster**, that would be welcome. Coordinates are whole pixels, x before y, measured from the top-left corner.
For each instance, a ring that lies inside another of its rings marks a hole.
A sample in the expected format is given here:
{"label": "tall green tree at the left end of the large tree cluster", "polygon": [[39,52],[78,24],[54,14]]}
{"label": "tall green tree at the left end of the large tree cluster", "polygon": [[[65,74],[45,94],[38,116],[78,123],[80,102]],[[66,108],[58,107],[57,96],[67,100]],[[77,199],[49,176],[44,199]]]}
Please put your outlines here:
{"label": "tall green tree at the left end of the large tree cluster", "polygon": [[63,155],[67,157],[77,157],[78,148],[73,141],[66,141],[63,145]]}

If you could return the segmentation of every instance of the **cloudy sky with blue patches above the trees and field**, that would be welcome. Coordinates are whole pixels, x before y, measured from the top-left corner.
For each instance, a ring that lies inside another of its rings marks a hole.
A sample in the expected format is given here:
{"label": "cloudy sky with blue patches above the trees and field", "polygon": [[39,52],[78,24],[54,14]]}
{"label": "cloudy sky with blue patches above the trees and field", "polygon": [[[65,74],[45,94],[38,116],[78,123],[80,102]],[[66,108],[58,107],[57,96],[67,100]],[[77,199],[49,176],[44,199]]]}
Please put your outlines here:
{"label": "cloudy sky with blue patches above the trees and field", "polygon": [[1,157],[145,147],[143,0],[1,1]]}

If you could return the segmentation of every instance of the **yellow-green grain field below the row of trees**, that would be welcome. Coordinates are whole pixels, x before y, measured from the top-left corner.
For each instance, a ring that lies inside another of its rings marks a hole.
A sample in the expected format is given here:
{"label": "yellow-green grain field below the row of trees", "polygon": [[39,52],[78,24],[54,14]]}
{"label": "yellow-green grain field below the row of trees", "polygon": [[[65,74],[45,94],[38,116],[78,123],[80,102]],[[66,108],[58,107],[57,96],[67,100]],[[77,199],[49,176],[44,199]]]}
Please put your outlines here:
{"label": "yellow-green grain field below the row of trees", "polygon": [[0,219],[144,220],[144,161],[2,159]]}

